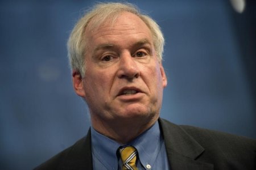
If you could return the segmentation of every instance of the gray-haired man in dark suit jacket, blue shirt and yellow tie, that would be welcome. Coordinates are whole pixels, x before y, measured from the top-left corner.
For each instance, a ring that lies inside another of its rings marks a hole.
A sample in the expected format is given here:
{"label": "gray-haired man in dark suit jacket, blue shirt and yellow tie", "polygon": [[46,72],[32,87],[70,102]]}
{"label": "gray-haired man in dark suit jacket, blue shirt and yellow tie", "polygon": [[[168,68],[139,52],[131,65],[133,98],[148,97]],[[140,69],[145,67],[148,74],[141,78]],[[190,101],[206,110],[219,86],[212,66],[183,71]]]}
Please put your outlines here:
{"label": "gray-haired man in dark suit jacket, blue shirt and yellow tie", "polygon": [[253,139],[159,118],[163,44],[158,25],[132,5],[101,3],[85,14],[68,49],[92,127],[36,169],[254,169]]}

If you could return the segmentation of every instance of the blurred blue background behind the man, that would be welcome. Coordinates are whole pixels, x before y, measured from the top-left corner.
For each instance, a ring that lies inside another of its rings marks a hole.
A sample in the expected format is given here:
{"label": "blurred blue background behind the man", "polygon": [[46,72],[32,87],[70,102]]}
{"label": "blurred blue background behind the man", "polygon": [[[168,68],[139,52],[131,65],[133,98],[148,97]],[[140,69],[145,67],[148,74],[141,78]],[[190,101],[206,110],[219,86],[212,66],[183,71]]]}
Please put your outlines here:
{"label": "blurred blue background behind the man", "polygon": [[[256,138],[255,1],[127,2],[166,37],[161,116]],[[32,169],[86,134],[66,42],[94,3],[0,1],[0,169]]]}

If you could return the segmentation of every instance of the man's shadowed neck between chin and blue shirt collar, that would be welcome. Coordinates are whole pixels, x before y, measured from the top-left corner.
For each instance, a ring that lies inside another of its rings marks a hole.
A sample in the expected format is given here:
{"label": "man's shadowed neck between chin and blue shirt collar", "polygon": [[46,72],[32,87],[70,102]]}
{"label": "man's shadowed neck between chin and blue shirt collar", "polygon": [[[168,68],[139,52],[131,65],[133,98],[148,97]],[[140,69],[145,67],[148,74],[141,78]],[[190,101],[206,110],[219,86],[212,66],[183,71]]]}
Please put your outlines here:
{"label": "man's shadowed neck between chin and blue shirt collar", "polygon": [[125,145],[154,125],[158,117],[151,118],[147,121],[142,120],[145,120],[145,118],[131,118],[130,120],[125,118],[124,120],[102,122],[92,117],[92,126],[99,133],[121,145]]}

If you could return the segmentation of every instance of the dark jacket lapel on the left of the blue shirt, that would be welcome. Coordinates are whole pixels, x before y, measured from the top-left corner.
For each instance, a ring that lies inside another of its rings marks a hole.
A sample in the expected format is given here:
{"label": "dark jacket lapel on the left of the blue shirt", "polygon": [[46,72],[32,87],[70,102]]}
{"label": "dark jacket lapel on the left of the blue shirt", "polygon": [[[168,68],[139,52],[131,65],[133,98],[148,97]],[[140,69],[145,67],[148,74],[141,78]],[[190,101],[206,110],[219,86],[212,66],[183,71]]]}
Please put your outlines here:
{"label": "dark jacket lapel on the left of the blue shirt", "polygon": [[59,169],[93,170],[90,129],[86,137],[80,139],[72,146]]}

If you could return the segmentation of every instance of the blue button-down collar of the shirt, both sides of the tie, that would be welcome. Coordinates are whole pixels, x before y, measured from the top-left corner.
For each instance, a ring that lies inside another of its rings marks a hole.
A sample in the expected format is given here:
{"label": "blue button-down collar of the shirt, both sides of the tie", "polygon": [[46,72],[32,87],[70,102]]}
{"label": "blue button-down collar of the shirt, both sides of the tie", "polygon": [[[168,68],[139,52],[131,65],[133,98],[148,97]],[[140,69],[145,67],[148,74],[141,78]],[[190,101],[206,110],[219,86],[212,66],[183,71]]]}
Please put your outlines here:
{"label": "blue button-down collar of the shirt, both sides of the tie", "polygon": [[[117,149],[120,147],[120,144],[98,133],[93,128],[91,128],[91,133],[92,152],[96,159],[108,169],[117,169]],[[160,133],[158,121],[150,129],[144,131],[144,133],[130,143],[127,143],[127,145],[134,146],[137,149],[139,160],[144,168],[146,168],[147,164],[154,165],[162,144],[163,137]]]}

